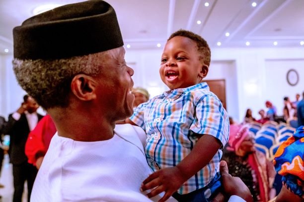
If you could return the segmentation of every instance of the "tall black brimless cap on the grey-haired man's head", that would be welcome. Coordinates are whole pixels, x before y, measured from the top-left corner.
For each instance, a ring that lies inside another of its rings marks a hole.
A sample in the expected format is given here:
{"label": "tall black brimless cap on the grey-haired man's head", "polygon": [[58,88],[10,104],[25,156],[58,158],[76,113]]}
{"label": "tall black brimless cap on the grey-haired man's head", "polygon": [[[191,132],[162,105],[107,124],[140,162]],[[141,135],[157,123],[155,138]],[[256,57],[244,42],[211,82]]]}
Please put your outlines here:
{"label": "tall black brimless cap on the grey-haired man's head", "polygon": [[14,57],[61,59],[124,45],[114,8],[103,0],[63,5],[13,29]]}

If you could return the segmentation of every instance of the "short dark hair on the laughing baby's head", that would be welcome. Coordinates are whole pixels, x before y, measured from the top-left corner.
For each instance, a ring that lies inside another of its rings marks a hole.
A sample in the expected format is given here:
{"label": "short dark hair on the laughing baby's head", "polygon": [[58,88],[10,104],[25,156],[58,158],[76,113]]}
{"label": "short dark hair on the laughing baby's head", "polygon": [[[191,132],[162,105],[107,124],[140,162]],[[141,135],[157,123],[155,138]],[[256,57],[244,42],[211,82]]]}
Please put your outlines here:
{"label": "short dark hair on the laughing baby's head", "polygon": [[211,60],[211,50],[205,39],[203,39],[200,35],[195,34],[191,31],[180,29],[180,30],[174,32],[173,34],[171,34],[171,36],[169,37],[169,39],[167,41],[169,41],[173,37],[177,37],[177,36],[187,37],[187,38],[195,41],[195,43],[198,47],[198,52],[201,54],[200,59],[202,59],[204,61],[204,64],[208,65],[208,67],[209,67],[210,60]]}

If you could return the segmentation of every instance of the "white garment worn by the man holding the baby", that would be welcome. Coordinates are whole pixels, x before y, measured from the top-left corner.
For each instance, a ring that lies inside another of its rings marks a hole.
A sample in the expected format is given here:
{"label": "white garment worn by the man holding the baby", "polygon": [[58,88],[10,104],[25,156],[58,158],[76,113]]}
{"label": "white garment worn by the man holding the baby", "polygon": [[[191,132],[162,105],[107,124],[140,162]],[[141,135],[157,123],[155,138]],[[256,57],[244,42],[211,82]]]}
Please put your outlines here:
{"label": "white garment worn by the man holding the baby", "polygon": [[31,202],[151,202],[140,192],[152,173],[143,150],[145,132],[123,124],[116,125],[114,133],[110,140],[97,142],[74,141],[56,133]]}

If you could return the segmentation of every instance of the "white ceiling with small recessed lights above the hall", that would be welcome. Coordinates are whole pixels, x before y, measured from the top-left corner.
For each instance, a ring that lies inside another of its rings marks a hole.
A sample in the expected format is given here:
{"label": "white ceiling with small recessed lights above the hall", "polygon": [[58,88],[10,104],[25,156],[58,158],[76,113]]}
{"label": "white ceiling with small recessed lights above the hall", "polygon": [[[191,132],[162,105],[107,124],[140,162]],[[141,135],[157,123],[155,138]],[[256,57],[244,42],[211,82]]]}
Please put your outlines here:
{"label": "white ceiling with small recessed lights above the hall", "polygon": [[[0,0],[0,53],[11,54],[13,27],[31,17],[36,6],[79,1]],[[246,47],[246,42],[249,47],[266,48],[274,47],[275,41],[276,47],[304,48],[300,45],[304,41],[304,0],[106,1],[116,10],[125,46],[130,45],[131,50],[157,49],[158,43],[162,47],[180,28],[200,34],[212,48],[218,42],[224,48]]]}

